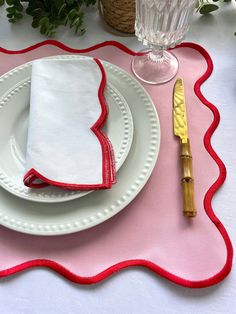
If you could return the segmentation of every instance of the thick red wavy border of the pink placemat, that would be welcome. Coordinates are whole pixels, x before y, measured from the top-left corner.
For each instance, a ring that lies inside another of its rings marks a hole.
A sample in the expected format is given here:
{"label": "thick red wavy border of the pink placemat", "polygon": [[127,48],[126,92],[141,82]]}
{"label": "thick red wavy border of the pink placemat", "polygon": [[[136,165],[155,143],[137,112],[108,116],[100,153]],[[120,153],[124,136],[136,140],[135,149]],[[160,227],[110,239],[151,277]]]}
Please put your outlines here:
{"label": "thick red wavy border of the pink placemat", "polygon": [[[8,53],[8,54],[20,54],[20,53],[32,51],[36,48],[39,48],[39,47],[42,47],[45,45],[57,46],[57,47],[65,50],[65,51],[72,52],[72,53],[86,53],[86,52],[89,52],[89,51],[92,51],[95,49],[99,49],[99,48],[102,48],[105,46],[114,46],[114,47],[117,47],[118,49],[126,52],[129,55],[134,56],[137,54],[134,51],[128,49],[127,47],[125,47],[124,45],[122,45],[116,41],[106,41],[104,43],[92,46],[92,47],[87,48],[87,49],[78,50],[78,49],[73,49],[73,48],[70,48],[68,46],[65,46],[64,44],[62,44],[58,41],[46,40],[44,42],[38,43],[36,45],[30,46],[26,49],[22,49],[22,50],[18,50],[18,51],[11,51],[11,50],[7,50],[4,48],[0,48],[0,51],[3,53]],[[214,133],[215,129],[217,128],[217,126],[220,122],[220,115],[219,115],[217,108],[205,99],[205,97],[202,95],[201,90],[200,90],[202,83],[212,73],[213,63],[212,63],[212,60],[211,60],[209,54],[200,45],[193,44],[193,43],[183,43],[183,44],[179,45],[178,47],[189,47],[189,48],[193,48],[193,49],[197,50],[205,58],[205,60],[207,62],[207,66],[208,66],[206,72],[195,83],[194,91],[195,91],[196,95],[198,96],[198,98],[201,100],[201,102],[204,105],[206,105],[213,112],[213,115],[214,115],[214,120],[213,120],[212,124],[210,125],[210,127],[208,128],[208,130],[204,136],[204,145],[205,145],[206,150],[211,155],[211,157],[217,163],[217,165],[219,167],[220,174],[219,174],[219,177],[217,178],[217,180],[214,182],[214,184],[210,187],[210,189],[207,191],[207,193],[205,195],[204,207],[205,207],[205,211],[206,211],[208,217],[215,224],[216,228],[221,233],[221,235],[224,239],[224,242],[225,242],[225,246],[227,249],[227,258],[226,258],[226,262],[225,262],[225,265],[223,266],[223,268],[217,274],[215,274],[214,276],[212,276],[208,279],[200,280],[200,281],[191,281],[191,280],[185,280],[184,278],[180,278],[180,277],[178,277],[172,273],[169,273],[165,269],[159,267],[158,265],[156,265],[150,261],[135,259],[135,260],[123,261],[123,262],[120,262],[118,264],[112,265],[111,267],[105,269],[104,271],[100,272],[99,274],[97,274],[95,276],[81,277],[81,276],[78,276],[78,275],[70,272],[67,268],[63,267],[62,265],[60,265],[54,261],[47,260],[47,259],[35,259],[35,260],[31,260],[31,261],[19,264],[17,266],[11,267],[9,269],[0,271],[0,277],[12,275],[14,273],[25,270],[27,268],[36,267],[36,266],[43,266],[43,267],[49,267],[49,268],[55,270],[56,272],[60,273],[65,278],[67,278],[67,279],[69,279],[75,283],[92,284],[92,283],[97,283],[97,282],[107,278],[108,276],[112,275],[113,273],[115,273],[115,272],[117,272],[123,268],[129,267],[129,266],[144,266],[144,267],[149,268],[150,270],[152,270],[156,274],[158,274],[164,278],[167,278],[176,284],[179,284],[179,285],[182,285],[185,287],[190,287],[190,288],[204,288],[204,287],[209,287],[209,286],[212,286],[212,285],[219,283],[229,274],[231,267],[232,267],[233,247],[232,247],[232,244],[231,244],[231,241],[230,241],[230,238],[228,236],[226,229],[224,228],[223,224],[220,222],[220,220],[214,214],[212,206],[211,206],[211,201],[212,201],[212,198],[213,198],[215,192],[220,188],[220,186],[223,184],[223,182],[226,178],[225,165],[223,164],[222,160],[218,157],[218,155],[216,154],[216,152],[214,151],[214,149],[211,146],[211,136]]]}

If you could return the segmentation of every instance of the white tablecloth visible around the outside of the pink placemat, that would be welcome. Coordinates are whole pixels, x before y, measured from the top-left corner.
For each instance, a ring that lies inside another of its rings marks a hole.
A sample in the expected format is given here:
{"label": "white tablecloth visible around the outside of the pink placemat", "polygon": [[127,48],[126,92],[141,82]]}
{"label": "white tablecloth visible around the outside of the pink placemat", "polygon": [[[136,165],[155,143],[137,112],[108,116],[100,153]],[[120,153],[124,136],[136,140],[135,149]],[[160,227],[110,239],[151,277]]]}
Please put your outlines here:
{"label": "white tablecloth visible around the outside of the pink placemat", "polygon": [[[56,38],[84,48],[105,40],[117,40],[141,49],[135,37],[107,32],[95,8],[86,14],[83,37],[61,29]],[[228,175],[213,199],[216,215],[236,242],[236,4],[225,4],[215,14],[194,15],[187,41],[205,47],[214,62],[214,72],[202,87],[206,98],[221,114],[212,144],[224,161]],[[30,18],[10,25],[0,8],[0,46],[20,49],[45,40],[30,27]],[[92,286],[73,284],[47,269],[31,269],[0,280],[1,314],[37,313],[236,313],[236,271],[221,284],[198,290],[177,286],[143,268],[130,268]]]}

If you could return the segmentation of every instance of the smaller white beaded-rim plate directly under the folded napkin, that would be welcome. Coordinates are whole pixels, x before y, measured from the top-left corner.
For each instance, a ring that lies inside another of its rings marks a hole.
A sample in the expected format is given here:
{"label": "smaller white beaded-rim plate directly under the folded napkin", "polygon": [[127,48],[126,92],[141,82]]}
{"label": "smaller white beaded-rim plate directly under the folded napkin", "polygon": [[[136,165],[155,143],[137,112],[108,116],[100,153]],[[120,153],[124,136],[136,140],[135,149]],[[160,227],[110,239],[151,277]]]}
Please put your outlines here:
{"label": "smaller white beaded-rim plate directly under the folded napkin", "polygon": [[[60,56],[71,58],[71,56]],[[84,59],[86,57],[77,57]],[[57,57],[58,59],[58,57]],[[15,84],[15,77],[18,83]],[[30,189],[23,184],[29,116],[31,63],[1,77],[0,94],[0,185],[18,197],[37,202],[58,203],[82,197],[92,191],[71,191],[57,187]],[[10,82],[9,82],[10,81]],[[5,85],[10,89],[3,91]],[[2,94],[4,92],[4,95]],[[133,120],[127,102],[108,80],[105,97],[109,116],[104,127],[115,153],[117,171],[122,166],[133,139]]]}

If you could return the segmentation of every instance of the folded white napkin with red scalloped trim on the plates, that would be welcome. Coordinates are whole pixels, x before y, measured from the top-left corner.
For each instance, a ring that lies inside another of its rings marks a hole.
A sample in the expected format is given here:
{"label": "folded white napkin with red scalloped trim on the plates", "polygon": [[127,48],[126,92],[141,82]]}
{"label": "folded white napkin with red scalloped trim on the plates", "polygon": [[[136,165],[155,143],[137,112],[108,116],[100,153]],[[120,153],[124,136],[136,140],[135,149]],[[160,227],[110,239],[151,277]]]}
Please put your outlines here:
{"label": "folded white napkin with red scalloped trim on the plates", "polygon": [[108,115],[105,86],[98,59],[33,62],[26,186],[75,190],[112,186],[113,150],[101,131]]}

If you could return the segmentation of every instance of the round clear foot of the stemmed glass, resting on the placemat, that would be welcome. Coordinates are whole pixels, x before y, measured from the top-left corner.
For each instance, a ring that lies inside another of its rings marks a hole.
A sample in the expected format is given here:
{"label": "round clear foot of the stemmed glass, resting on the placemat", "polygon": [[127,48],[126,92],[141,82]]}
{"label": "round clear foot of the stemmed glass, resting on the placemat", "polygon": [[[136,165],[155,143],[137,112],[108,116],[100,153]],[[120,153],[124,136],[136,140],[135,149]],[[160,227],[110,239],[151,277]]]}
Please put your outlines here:
{"label": "round clear foot of the stemmed glass, resting on the placemat", "polygon": [[152,49],[144,49],[132,61],[134,74],[141,81],[153,85],[170,81],[178,68],[177,58],[168,51],[155,52]]}

